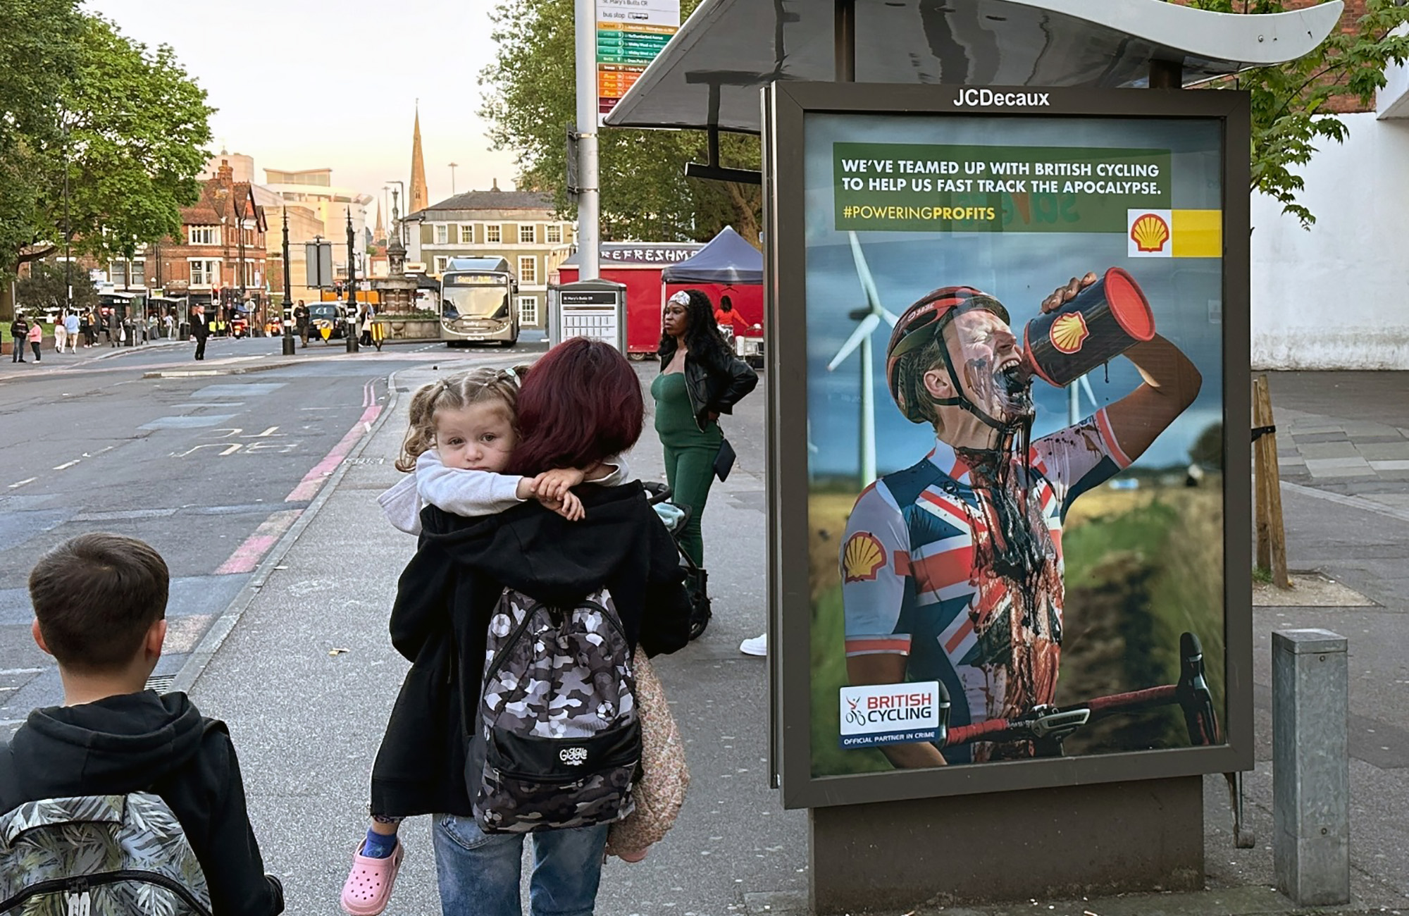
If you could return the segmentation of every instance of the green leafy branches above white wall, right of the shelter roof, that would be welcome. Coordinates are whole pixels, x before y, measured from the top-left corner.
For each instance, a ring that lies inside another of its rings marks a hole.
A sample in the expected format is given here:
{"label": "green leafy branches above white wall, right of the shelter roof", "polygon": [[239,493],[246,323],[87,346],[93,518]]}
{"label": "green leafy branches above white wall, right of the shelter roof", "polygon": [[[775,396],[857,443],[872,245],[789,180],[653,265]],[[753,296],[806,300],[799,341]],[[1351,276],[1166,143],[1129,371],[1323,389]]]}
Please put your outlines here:
{"label": "green leafy branches above white wall, right of the shelter roof", "polygon": [[[1319,0],[1324,3],[1326,0]],[[1303,4],[1288,0],[1188,0],[1215,13],[1284,13]],[[1396,0],[1367,0],[1360,18],[1341,27],[1315,51],[1279,66],[1260,66],[1215,80],[1212,87],[1244,89],[1253,107],[1253,189],[1282,204],[1309,228],[1316,217],[1296,202],[1306,186],[1295,172],[1310,162],[1317,144],[1344,142],[1346,121],[1336,117],[1347,101],[1364,109],[1385,86],[1385,68],[1409,56],[1409,7]]]}

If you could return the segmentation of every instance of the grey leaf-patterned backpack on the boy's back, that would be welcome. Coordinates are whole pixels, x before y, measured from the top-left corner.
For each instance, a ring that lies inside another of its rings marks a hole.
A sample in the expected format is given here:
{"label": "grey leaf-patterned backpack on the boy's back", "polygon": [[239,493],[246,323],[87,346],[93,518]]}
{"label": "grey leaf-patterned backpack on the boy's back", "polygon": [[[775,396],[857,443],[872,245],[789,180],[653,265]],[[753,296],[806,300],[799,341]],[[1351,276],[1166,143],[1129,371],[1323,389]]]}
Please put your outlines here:
{"label": "grey leaf-patterned backpack on the boy's back", "polygon": [[27,802],[0,815],[3,916],[210,916],[210,891],[158,795]]}

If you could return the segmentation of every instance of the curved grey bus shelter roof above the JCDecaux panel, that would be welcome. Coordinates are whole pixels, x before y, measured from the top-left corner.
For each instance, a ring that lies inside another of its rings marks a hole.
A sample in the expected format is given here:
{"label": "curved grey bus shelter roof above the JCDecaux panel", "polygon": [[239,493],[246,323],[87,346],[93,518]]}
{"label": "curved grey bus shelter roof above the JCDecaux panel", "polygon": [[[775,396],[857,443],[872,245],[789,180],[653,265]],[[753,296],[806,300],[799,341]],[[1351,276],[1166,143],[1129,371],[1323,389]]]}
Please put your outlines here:
{"label": "curved grey bus shelter roof above the JCDecaux panel", "polygon": [[[1341,0],[1289,13],[1209,13],[1162,0],[854,0],[855,82],[1140,87],[1151,61],[1184,85],[1295,61]],[[704,0],[609,127],[758,132],[759,87],[836,76],[837,0]]]}

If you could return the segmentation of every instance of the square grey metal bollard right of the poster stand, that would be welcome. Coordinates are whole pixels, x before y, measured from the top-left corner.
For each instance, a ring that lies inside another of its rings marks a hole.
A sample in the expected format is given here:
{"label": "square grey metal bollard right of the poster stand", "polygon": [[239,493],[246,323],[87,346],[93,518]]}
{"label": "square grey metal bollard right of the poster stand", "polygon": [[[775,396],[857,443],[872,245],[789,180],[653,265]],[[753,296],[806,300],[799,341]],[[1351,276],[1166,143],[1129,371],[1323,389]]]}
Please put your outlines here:
{"label": "square grey metal bollard right of the poster stand", "polygon": [[1272,861],[1298,906],[1350,902],[1346,637],[1272,633]]}

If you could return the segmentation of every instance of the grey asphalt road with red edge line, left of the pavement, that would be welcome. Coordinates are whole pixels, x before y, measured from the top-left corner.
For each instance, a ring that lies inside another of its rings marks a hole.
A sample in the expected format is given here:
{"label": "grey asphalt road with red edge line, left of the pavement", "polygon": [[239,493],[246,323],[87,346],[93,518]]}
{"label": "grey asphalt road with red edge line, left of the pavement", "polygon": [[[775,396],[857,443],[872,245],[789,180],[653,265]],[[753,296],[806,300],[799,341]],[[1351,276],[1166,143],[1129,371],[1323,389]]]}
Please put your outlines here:
{"label": "grey asphalt road with red edge line, left of the pavement", "polygon": [[368,431],[390,373],[504,355],[440,344],[347,354],[337,341],[282,357],[278,340],[211,338],[204,362],[190,344],[0,362],[0,740],[62,700],[30,636],[27,581],[46,550],[106,530],[161,551],[172,589],[154,676],[169,678]]}

